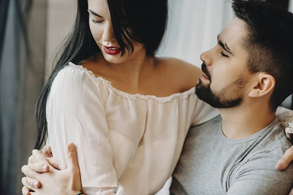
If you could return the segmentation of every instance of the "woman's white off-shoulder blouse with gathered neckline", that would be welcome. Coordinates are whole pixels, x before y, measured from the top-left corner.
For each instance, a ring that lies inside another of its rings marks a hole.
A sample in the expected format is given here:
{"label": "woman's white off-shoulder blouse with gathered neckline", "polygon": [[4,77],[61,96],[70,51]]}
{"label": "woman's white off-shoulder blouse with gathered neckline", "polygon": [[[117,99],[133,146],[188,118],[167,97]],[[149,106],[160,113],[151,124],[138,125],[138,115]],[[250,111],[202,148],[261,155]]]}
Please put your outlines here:
{"label": "woman's white off-shoulder blouse with gathered neckline", "polygon": [[87,195],[120,184],[127,195],[155,194],[171,176],[189,127],[218,115],[195,88],[163,98],[131,95],[73,63],[58,73],[46,105],[53,156],[66,169],[66,145],[75,143]]}

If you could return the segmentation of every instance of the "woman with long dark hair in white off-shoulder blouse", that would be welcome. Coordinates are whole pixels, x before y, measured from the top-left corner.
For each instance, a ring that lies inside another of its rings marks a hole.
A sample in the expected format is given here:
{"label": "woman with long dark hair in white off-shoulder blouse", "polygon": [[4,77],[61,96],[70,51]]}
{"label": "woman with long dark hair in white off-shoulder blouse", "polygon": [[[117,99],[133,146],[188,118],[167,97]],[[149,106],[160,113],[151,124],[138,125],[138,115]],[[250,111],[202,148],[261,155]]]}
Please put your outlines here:
{"label": "woman with long dark hair in white off-shoulder blouse", "polygon": [[87,195],[115,194],[120,184],[129,195],[156,193],[189,127],[218,115],[194,93],[200,69],[154,57],[166,23],[167,0],[78,0],[74,31],[38,104],[35,148],[48,128],[66,169],[74,142]]}

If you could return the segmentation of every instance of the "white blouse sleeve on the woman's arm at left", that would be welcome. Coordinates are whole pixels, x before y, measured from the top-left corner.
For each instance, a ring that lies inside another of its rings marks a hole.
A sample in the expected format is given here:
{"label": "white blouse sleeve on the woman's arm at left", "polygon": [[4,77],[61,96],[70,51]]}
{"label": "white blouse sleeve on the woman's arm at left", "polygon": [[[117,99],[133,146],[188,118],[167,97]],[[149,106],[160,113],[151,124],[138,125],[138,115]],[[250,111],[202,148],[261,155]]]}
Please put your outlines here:
{"label": "white blouse sleeve on the woman's arm at left", "polygon": [[47,99],[48,134],[54,157],[66,169],[66,145],[75,143],[83,193],[117,188],[104,109],[107,90],[78,66],[61,70]]}

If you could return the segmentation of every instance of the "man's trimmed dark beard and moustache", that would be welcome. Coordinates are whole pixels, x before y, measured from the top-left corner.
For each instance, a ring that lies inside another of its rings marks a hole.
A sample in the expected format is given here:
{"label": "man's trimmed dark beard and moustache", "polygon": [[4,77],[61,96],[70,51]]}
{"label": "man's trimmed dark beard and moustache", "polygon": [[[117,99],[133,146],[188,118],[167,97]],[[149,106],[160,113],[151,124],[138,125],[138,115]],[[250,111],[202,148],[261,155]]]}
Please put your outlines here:
{"label": "man's trimmed dark beard and moustache", "polygon": [[[209,71],[207,70],[207,66],[203,63],[202,70],[205,75],[209,78],[209,83],[204,84],[201,79],[196,85],[195,94],[197,97],[205,102],[207,102],[210,106],[214,108],[233,108],[240,106],[243,101],[243,96],[241,96],[241,90],[243,90],[245,81],[243,77],[239,77],[238,80],[231,83],[224,89],[219,92],[212,92],[210,89],[211,77]],[[228,98],[229,89],[234,89],[233,93],[236,93],[238,98]]]}

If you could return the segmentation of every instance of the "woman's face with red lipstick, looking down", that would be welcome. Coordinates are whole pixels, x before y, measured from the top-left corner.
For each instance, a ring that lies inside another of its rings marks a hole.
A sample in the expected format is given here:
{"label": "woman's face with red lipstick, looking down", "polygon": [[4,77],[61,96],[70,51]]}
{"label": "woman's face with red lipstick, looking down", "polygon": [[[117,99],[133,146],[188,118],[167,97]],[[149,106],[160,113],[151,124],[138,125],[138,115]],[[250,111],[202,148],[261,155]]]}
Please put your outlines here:
{"label": "woman's face with red lipstick, looking down", "polygon": [[108,62],[119,64],[145,55],[143,45],[132,42],[134,46],[133,54],[129,56],[129,52],[126,50],[125,55],[121,57],[122,51],[114,37],[110,11],[106,0],[88,0],[88,12],[91,34]]}

